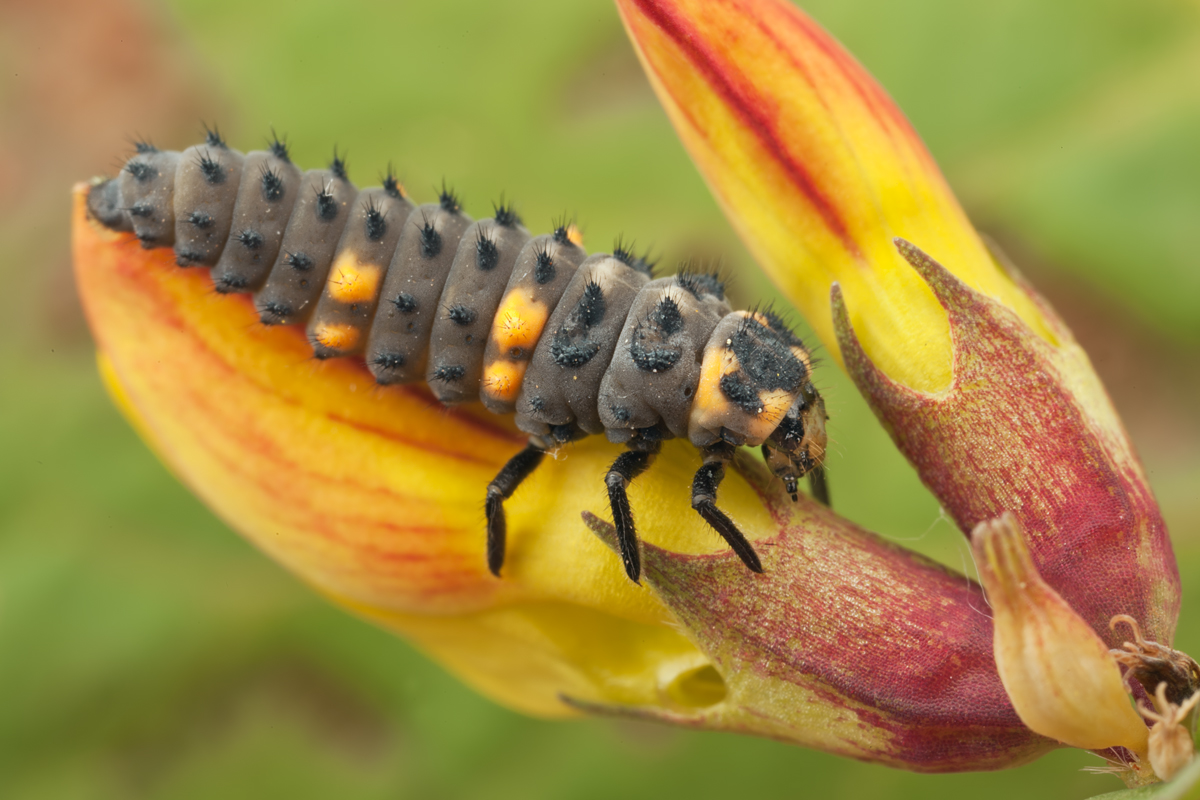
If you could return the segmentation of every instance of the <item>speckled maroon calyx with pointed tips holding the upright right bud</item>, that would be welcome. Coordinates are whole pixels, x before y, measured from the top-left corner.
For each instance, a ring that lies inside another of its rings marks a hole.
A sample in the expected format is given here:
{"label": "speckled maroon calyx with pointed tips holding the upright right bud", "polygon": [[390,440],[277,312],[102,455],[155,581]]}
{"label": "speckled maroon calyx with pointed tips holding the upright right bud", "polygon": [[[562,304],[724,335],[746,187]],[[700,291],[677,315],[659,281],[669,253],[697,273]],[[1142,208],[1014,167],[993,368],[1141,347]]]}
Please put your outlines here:
{"label": "speckled maroon calyx with pointed tips holding the upright right bud", "polygon": [[962,530],[1015,515],[1042,578],[1092,630],[1129,614],[1170,642],[1180,577],[1158,504],[1091,363],[1032,289],[1058,344],[908,242],[899,251],[946,308],[954,380],[900,385],[871,361],[834,289],[846,368]]}

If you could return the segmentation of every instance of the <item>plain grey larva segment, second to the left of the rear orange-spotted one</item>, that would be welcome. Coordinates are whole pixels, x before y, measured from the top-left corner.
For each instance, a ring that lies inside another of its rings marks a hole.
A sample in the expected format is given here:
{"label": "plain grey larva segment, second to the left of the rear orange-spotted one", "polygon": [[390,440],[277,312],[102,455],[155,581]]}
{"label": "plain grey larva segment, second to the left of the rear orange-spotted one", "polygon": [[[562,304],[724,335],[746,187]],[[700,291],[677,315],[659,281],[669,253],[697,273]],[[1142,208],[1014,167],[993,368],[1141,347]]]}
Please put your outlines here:
{"label": "plain grey larva segment, second to the left of the rear orange-spotted one", "polygon": [[300,168],[287,151],[256,150],[241,166],[229,240],[212,269],[212,282],[229,289],[257,289],[266,281],[283,243],[283,231],[300,192]]}

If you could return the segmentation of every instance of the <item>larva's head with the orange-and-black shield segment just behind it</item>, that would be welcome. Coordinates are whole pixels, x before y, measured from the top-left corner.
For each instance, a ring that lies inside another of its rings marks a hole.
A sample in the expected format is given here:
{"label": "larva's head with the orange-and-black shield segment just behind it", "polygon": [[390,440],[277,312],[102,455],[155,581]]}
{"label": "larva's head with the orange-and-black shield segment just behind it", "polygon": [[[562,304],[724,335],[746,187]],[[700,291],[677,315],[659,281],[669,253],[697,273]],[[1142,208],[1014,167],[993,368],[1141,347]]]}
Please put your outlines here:
{"label": "larva's head with the orange-and-black shield segment just behind it", "polygon": [[824,404],[804,343],[770,312],[739,311],[704,348],[688,426],[697,446],[767,445],[772,469],[794,487],[824,458]]}

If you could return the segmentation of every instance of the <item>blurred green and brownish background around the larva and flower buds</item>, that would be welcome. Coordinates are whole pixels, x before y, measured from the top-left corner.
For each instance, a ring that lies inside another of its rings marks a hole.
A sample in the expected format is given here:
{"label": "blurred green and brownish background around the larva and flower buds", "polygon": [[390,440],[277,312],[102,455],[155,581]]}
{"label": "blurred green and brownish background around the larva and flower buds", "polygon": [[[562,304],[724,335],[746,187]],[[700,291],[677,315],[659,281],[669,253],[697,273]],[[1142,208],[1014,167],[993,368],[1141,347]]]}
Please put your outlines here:
{"label": "blurred green and brownish background around the larva and flower buds", "polygon": [[[1200,652],[1200,4],[814,0],[977,223],[1088,348],[1174,533]],[[130,136],[286,132],[304,166],[392,161],[482,216],[564,210],[769,293],[604,0],[334,5],[0,0],[0,795],[1086,798],[1060,751],[918,776],[770,741],[542,722],[458,685],[244,543],[106,398],[73,294],[67,192]],[[966,569],[964,539],[845,377],[822,372],[839,509]]]}

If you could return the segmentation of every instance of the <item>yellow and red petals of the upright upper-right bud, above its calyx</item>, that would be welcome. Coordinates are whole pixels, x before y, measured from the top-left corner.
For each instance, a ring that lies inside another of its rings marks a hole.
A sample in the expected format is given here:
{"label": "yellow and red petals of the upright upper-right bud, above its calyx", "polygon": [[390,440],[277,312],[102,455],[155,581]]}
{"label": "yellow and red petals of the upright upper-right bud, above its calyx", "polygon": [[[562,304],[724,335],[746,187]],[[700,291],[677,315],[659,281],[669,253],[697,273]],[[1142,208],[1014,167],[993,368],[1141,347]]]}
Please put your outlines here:
{"label": "yellow and red petals of the upright upper-right bud, above its calyx", "polygon": [[884,373],[924,391],[950,383],[946,313],[896,255],[894,236],[918,242],[1049,335],[900,109],[799,8],[787,0],[617,7],[725,213],[835,357],[836,282]]}

